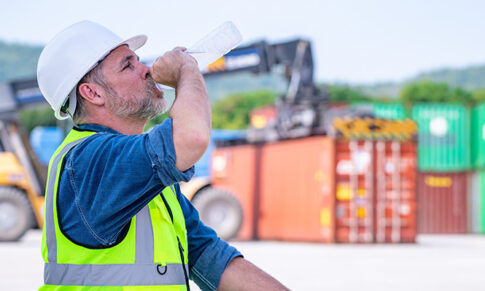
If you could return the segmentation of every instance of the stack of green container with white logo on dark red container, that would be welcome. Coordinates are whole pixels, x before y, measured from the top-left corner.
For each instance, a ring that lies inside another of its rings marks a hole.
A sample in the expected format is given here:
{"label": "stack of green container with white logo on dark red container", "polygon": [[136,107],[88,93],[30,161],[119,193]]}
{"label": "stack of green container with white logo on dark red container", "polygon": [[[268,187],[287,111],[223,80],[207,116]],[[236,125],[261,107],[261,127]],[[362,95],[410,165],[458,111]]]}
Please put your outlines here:
{"label": "stack of green container with white logo on dark red container", "polygon": [[422,103],[418,125],[418,232],[467,232],[470,112],[462,104]]}

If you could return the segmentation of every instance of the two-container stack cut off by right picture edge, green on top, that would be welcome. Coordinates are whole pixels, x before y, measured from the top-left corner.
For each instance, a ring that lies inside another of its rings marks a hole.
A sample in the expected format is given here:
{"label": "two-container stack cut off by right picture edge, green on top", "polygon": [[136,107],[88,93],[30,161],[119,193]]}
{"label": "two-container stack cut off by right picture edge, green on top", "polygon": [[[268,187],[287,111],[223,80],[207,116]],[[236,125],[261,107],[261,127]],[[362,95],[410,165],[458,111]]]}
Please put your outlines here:
{"label": "two-container stack cut off by right picture edge, green on top", "polygon": [[485,233],[485,103],[472,109],[471,157],[469,227],[471,232]]}

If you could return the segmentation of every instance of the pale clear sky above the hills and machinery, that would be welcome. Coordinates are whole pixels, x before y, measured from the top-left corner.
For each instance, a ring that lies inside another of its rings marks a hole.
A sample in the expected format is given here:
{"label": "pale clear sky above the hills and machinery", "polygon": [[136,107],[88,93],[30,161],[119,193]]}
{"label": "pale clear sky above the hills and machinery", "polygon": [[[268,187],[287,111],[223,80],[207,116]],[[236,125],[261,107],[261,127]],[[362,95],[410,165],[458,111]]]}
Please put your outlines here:
{"label": "pale clear sky above the hills and machinery", "polygon": [[243,44],[310,40],[315,79],[325,82],[399,81],[485,64],[480,0],[0,0],[0,7],[0,40],[45,44],[91,20],[122,38],[146,34],[142,59],[188,47],[230,20]]}

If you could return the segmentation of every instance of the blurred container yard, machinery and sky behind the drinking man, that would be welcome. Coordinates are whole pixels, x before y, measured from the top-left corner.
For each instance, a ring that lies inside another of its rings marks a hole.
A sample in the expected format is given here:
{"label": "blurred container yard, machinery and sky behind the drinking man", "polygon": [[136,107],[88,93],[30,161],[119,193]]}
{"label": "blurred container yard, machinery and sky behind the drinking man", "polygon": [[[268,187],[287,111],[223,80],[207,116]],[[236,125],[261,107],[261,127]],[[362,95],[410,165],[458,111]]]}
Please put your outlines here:
{"label": "blurred container yard, machinery and sky behind the drinking man", "polygon": [[239,28],[243,43],[202,70],[214,130],[182,191],[290,289],[485,286],[485,3],[0,5],[2,290],[42,284],[46,168],[72,123],[54,118],[36,64],[81,20],[146,34],[148,65],[227,20]]}

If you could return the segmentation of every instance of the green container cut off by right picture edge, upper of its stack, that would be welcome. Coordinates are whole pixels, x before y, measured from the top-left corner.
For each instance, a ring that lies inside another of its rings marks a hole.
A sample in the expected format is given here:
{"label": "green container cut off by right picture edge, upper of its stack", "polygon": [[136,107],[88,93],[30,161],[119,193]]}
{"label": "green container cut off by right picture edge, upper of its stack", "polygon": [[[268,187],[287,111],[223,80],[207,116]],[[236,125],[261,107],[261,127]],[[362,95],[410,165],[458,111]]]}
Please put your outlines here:
{"label": "green container cut off by right picture edge, upper of its stack", "polygon": [[471,128],[472,167],[485,168],[485,103],[473,107]]}

